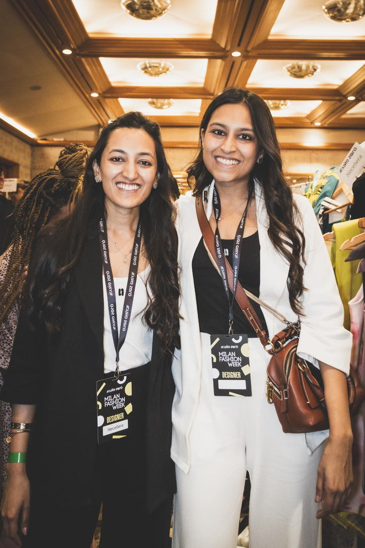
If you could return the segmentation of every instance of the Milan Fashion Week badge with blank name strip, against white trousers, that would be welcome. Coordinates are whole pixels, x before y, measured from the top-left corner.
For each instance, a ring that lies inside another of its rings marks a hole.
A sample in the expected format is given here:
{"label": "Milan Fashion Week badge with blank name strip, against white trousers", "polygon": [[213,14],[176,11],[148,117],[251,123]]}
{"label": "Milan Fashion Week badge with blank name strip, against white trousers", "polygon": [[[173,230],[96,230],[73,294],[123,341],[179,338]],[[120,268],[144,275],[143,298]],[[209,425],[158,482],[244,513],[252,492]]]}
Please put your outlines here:
{"label": "Milan Fashion Week badge with blank name strip, against white trousers", "polygon": [[210,335],[214,396],[251,396],[247,335]]}

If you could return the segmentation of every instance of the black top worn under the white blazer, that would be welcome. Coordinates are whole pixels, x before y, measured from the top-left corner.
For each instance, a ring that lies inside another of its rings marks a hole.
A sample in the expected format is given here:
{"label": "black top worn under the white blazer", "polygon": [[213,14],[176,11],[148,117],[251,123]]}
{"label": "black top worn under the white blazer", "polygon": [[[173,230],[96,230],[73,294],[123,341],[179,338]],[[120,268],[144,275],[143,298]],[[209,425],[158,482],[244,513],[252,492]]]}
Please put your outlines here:
{"label": "black top worn under the white blazer", "polygon": [[[232,266],[233,240],[222,241],[224,254]],[[195,295],[198,307],[199,329],[203,333],[228,333],[229,302],[219,272],[209,259],[208,252],[201,238],[192,260]],[[256,296],[260,294],[260,242],[256,231],[243,238],[241,258],[239,261],[238,280],[243,289]],[[250,300],[261,324],[267,332],[266,322],[260,305]],[[237,301],[233,304],[233,330],[235,333],[247,333],[256,337],[254,329],[239,308]]]}

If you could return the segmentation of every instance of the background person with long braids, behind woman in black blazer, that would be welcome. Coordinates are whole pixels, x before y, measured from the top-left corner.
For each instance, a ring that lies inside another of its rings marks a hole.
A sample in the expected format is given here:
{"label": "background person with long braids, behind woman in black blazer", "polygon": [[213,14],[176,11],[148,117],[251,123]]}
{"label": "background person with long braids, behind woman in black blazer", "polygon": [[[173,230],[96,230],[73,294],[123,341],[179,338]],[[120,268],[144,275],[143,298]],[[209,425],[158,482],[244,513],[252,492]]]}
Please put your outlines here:
{"label": "background person with long braids, behind woman in black blazer", "polygon": [[[54,167],[33,178],[14,209],[13,237],[10,246],[0,256],[0,391],[12,353],[20,297],[33,243],[44,225],[66,215],[72,208],[82,190],[88,153],[88,148],[81,143],[62,149]],[[6,477],[9,446],[6,438],[10,431],[10,417],[10,404],[0,401],[0,498]]]}

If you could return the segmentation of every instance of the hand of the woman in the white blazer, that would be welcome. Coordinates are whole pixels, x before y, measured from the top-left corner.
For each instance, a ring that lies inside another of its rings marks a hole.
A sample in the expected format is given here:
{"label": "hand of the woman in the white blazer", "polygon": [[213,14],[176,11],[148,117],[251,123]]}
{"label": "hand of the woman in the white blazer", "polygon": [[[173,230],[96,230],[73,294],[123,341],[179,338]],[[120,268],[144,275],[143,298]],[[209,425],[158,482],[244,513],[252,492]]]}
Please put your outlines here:
{"label": "hand of the woman in the white blazer", "polygon": [[316,517],[338,512],[350,494],[352,475],[352,436],[329,436],[318,466],[316,503],[322,503]]}

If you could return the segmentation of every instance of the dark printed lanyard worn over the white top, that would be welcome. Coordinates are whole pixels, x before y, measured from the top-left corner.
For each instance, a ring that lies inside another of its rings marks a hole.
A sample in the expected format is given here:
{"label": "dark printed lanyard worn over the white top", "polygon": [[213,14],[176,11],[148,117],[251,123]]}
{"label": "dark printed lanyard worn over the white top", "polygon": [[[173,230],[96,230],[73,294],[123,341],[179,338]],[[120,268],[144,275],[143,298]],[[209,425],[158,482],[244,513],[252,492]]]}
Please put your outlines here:
{"label": "dark printed lanyard worn over the white top", "polygon": [[121,330],[118,337],[118,322],[117,322],[117,302],[114,288],[114,279],[113,273],[110,264],[109,258],[109,247],[108,247],[108,238],[106,233],[106,224],[104,224],[104,219],[99,221],[99,236],[100,236],[100,248],[102,255],[102,269],[104,270],[104,278],[106,284],[106,295],[108,299],[108,310],[110,318],[110,327],[113,335],[113,342],[116,351],[116,370],[115,376],[119,378],[119,351],[126,340],[127,330],[130,320],[130,315],[132,313],[132,304],[134,297],[134,289],[138,275],[138,261],[139,253],[141,249],[141,239],[142,239],[142,227],[140,220],[138,221],[138,227],[134,236],[133,243],[133,253],[132,258],[130,259],[129,272],[128,272],[128,282],[126,289],[126,296],[124,298],[123,312],[122,312],[122,322]]}

